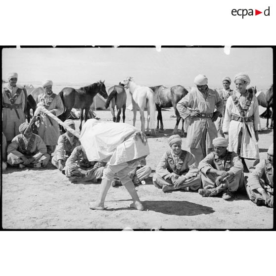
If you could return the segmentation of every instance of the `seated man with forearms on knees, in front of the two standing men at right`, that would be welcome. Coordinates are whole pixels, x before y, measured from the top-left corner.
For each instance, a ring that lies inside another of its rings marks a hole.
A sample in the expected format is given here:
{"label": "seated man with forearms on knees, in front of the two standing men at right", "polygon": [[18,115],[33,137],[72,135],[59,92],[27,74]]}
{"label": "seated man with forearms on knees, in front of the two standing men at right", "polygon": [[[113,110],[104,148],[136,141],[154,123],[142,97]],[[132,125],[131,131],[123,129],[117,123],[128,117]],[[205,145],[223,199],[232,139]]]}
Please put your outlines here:
{"label": "seated man with forearms on knees, in front of the two standing men at right", "polygon": [[213,140],[214,151],[199,162],[203,189],[202,196],[214,196],[223,192],[223,199],[233,197],[239,183],[244,181],[243,165],[238,155],[227,150],[228,140],[223,137]]}

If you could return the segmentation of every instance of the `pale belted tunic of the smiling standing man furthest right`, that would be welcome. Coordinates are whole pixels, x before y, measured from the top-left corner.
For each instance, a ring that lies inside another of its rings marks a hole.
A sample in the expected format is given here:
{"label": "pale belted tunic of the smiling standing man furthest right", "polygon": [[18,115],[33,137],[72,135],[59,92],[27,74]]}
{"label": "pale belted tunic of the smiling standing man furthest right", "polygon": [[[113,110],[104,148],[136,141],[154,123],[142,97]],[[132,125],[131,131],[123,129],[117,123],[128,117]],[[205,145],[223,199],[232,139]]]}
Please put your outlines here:
{"label": "pale belted tunic of the smiling standing man furthest right", "polygon": [[[237,96],[240,106],[245,107],[246,97],[249,92],[241,95],[240,92],[234,91],[233,94]],[[238,152],[238,138],[242,128],[241,148],[239,156],[243,158],[259,159],[258,141],[255,137],[255,131],[261,130],[261,122],[259,115],[258,100],[253,95],[251,104],[245,112],[245,117],[253,116],[253,122],[239,122],[231,119],[231,115],[240,116],[239,110],[235,106],[232,97],[230,96],[226,102],[225,117],[223,122],[223,132],[229,134],[229,151]],[[250,131],[251,137],[248,133]]]}

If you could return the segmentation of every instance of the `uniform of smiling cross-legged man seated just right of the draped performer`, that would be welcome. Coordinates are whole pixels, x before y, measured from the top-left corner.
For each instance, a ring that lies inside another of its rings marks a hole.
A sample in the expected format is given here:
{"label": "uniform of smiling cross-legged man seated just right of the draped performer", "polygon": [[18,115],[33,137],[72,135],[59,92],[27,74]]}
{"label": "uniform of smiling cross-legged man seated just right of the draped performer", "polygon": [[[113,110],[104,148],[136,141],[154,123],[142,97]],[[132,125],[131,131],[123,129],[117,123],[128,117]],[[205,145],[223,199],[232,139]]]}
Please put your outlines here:
{"label": "uniform of smiling cross-legged man seated just right of the draped performer", "polygon": [[[170,155],[165,152],[156,168],[156,174],[154,174],[152,181],[156,186],[162,187],[163,184],[172,184],[170,178],[176,176],[173,168],[177,168],[177,165],[181,161],[180,157],[185,154],[184,160],[179,171],[179,179],[183,179],[183,184],[196,190],[200,187],[200,176],[197,166],[195,165],[194,156],[188,152],[181,150],[178,156],[175,156],[171,150]],[[172,156],[172,158],[171,158]]]}

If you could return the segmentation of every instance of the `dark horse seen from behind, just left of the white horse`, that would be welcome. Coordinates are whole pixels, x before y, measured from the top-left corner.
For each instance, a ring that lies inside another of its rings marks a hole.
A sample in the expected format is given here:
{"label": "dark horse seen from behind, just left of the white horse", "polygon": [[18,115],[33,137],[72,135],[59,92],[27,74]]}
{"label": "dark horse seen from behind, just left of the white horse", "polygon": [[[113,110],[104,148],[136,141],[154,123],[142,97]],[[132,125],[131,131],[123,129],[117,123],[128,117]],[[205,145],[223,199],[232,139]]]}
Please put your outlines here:
{"label": "dark horse seen from behind, just left of the white horse", "polygon": [[[110,101],[111,101],[111,106],[110,106],[110,111],[113,117],[113,122],[119,123],[120,122],[120,114],[123,109],[123,122],[125,123],[126,119],[126,102],[127,102],[127,93],[124,89],[123,85],[115,85],[112,86],[108,89],[108,97],[105,102],[105,108],[108,108]],[[115,105],[117,108],[117,117],[115,117]]]}

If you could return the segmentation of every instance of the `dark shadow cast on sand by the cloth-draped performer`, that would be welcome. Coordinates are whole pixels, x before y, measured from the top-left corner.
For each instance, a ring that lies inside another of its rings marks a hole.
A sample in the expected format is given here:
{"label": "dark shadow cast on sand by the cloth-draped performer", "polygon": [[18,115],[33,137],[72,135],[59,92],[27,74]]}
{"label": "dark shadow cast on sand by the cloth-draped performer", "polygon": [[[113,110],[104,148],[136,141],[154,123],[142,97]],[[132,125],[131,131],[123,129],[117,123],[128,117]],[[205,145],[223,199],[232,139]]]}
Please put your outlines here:
{"label": "dark shadow cast on sand by the cloth-draped performer", "polygon": [[[146,200],[142,201],[145,210],[176,216],[197,216],[212,214],[213,208],[188,201],[178,200]],[[110,208],[107,211],[129,210],[129,208]],[[133,209],[134,210],[134,209]]]}

